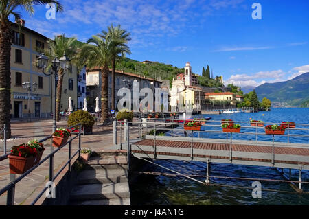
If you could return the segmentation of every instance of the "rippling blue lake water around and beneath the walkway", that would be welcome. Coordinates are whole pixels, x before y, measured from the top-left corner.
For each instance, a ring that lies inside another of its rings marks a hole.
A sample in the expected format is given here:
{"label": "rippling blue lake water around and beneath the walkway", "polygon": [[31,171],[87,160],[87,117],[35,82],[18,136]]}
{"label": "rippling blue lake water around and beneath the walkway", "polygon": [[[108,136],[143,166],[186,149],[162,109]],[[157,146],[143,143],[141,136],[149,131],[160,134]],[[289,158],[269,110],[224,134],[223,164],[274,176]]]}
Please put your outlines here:
{"label": "rippling blue lake water around and beneath the walkway", "polygon": [[[297,124],[309,124],[309,108],[272,108],[271,111],[259,113],[235,113],[222,115],[198,115],[194,117],[211,117],[212,121],[232,119],[238,122],[248,122],[249,119],[262,120],[280,124],[282,121],[295,122]],[[215,124],[214,122],[207,124]],[[216,123],[218,124],[218,123]],[[242,124],[248,126],[249,124]],[[203,127],[207,130],[220,130],[220,127]],[[297,128],[309,128],[301,126]],[[254,128],[242,128],[242,132],[255,132]],[[258,132],[263,133],[264,129]],[[303,131],[290,130],[291,134],[299,134]],[[309,135],[309,132],[303,132]],[[168,134],[168,133],[167,133]],[[179,127],[177,135],[183,135],[183,128]],[[196,137],[197,134],[194,134]],[[189,135],[190,136],[190,135]],[[222,138],[225,134],[203,133],[201,137]],[[234,137],[234,136],[233,136]],[[255,141],[255,135],[236,134],[237,139]],[[259,136],[259,141],[269,141],[271,136]],[[286,137],[275,137],[275,141],[287,141]],[[309,143],[309,138],[290,137],[290,142]],[[207,165],[202,162],[164,161],[157,160],[155,163],[184,174],[206,175]],[[144,170],[145,171],[145,170]],[[155,165],[147,165],[150,172],[166,172],[163,168]],[[284,169],[288,174],[288,169]],[[292,170],[293,180],[298,181],[298,170]],[[246,178],[268,178],[283,180],[275,168],[257,166],[229,165],[211,163],[210,176],[231,176]],[[302,172],[302,181],[308,181],[309,171]],[[197,178],[205,181],[205,178]],[[277,183],[261,181],[262,198],[252,197],[253,181],[240,181],[233,179],[210,178],[211,183],[218,185],[202,185],[181,176],[152,176],[140,175],[130,185],[131,203],[133,205],[309,205],[309,194],[297,194],[289,183]],[[298,185],[298,184],[297,184]],[[244,188],[245,187],[245,188]],[[304,192],[309,192],[308,184],[302,184]],[[275,191],[267,191],[267,189]]]}

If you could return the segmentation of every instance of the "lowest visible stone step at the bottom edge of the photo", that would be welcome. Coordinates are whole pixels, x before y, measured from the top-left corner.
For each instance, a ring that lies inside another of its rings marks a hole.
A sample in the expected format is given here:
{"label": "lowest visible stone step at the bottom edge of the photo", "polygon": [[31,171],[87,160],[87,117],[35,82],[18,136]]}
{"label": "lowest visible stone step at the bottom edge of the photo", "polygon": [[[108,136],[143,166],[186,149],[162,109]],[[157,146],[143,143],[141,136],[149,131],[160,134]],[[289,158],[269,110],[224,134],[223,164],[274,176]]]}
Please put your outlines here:
{"label": "lowest visible stone step at the bottom edge of the photo", "polygon": [[70,205],[130,205],[130,198],[112,198],[98,200],[73,201]]}

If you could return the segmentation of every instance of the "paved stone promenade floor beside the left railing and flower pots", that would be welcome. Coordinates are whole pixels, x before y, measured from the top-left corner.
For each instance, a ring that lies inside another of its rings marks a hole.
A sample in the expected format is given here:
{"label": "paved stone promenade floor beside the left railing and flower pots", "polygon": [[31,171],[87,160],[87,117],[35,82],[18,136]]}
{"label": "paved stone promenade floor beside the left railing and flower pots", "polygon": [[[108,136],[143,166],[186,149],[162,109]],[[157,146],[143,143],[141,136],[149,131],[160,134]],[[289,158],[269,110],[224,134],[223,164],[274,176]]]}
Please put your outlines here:
{"label": "paved stone promenade floor beside the left railing and flower pots", "polygon": [[[67,127],[66,121],[61,121],[57,127]],[[132,133],[132,135],[131,135]],[[137,137],[137,130],[130,132],[130,137]],[[52,135],[52,120],[44,120],[37,122],[13,122],[12,123],[12,139],[7,143],[7,152],[10,152],[12,146],[21,143],[27,143],[31,139],[43,139]],[[120,135],[117,136],[119,142]],[[123,135],[122,135],[123,138]],[[93,126],[93,135],[85,135],[81,138],[82,148],[91,148],[95,152],[116,149],[113,147],[113,126]],[[124,140],[122,140],[124,142]],[[42,159],[50,153],[50,141],[45,141],[45,152]],[[78,149],[78,138],[72,142],[72,154]],[[62,148],[54,156],[54,174],[62,168],[63,163],[68,159],[68,148]],[[3,141],[0,141],[0,155],[3,155]],[[65,170],[64,170],[65,171]],[[62,176],[64,173],[60,174]],[[16,175],[18,177],[19,175]],[[10,178],[10,170],[8,159],[0,161],[0,189],[8,185]],[[31,200],[36,197],[42,188],[45,187],[49,179],[49,159],[40,165],[31,174],[23,178],[16,184],[15,189],[15,205],[30,205]],[[45,196],[45,194],[43,194]],[[6,205],[6,193],[0,196],[0,205]]]}

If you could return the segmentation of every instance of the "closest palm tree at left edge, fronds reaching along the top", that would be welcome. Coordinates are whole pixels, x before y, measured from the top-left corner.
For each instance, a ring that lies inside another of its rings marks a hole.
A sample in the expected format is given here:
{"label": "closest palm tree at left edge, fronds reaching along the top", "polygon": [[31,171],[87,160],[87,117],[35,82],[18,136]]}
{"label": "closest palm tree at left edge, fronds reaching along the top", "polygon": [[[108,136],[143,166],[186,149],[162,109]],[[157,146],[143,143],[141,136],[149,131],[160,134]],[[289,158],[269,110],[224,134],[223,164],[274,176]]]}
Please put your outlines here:
{"label": "closest palm tree at left edge, fronds reaching along the top", "polygon": [[[62,5],[54,0],[1,0],[0,1],[0,130],[4,124],[8,127],[7,137],[11,137],[10,110],[11,110],[11,72],[10,56],[12,45],[12,29],[9,16],[15,21],[21,19],[17,8],[34,14],[34,5],[55,3],[57,11],[62,11]],[[3,138],[4,132],[0,133]]]}

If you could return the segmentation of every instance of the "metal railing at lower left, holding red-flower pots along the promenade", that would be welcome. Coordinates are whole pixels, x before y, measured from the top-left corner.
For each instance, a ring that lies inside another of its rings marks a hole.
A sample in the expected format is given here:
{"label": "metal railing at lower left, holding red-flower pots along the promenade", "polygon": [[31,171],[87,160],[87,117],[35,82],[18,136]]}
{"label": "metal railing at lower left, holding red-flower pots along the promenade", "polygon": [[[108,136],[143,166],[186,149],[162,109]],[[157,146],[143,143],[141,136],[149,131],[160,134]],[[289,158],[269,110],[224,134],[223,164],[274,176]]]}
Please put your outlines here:
{"label": "metal railing at lower left, holding red-flower pots along the promenade", "polygon": [[[38,168],[42,163],[44,163],[48,159],[49,159],[49,182],[54,182],[56,180],[56,178],[60,175],[62,170],[64,170],[67,166],[68,166],[69,172],[71,172],[71,161],[73,160],[74,157],[76,157],[77,154],[78,154],[78,159],[80,159],[80,150],[81,150],[81,135],[82,135],[81,124],[71,126],[68,129],[72,129],[72,128],[75,128],[75,127],[79,128],[78,134],[75,137],[71,137],[71,139],[69,139],[69,141],[67,141],[67,143],[65,143],[63,146],[60,146],[60,148],[58,148],[56,150],[54,150],[54,147],[52,146],[52,135],[49,135],[48,137],[41,139],[39,141],[40,143],[43,143],[43,142],[51,139],[51,153],[48,154],[47,157],[42,159],[38,164],[36,164],[32,168],[30,168],[30,170],[27,170],[24,174],[21,174],[21,176],[19,176],[18,178],[16,178],[16,174],[10,174],[10,183],[8,183],[8,185],[6,185],[2,189],[0,189],[0,196],[3,193],[8,192],[7,193],[7,203],[6,203],[7,205],[14,205],[14,195],[15,195],[16,184],[19,183],[19,181],[21,181],[23,178],[25,178],[28,174],[30,174],[34,170],[36,170],[36,168]],[[72,153],[71,153],[71,149],[72,149],[71,143],[76,138],[78,138],[78,150],[72,155]],[[65,148],[67,145],[69,145],[68,160],[65,163],[65,165],[63,165],[62,168],[56,174],[54,174],[54,155],[59,150],[61,150],[62,148]],[[10,155],[10,154],[5,154],[2,157],[0,157],[0,161],[8,159],[8,155]],[[41,196],[46,192],[47,189],[49,189],[49,187],[45,187],[43,189],[43,191],[40,192],[40,194],[38,194],[38,196],[36,196],[36,198],[32,201],[31,205],[34,205],[38,201],[38,199],[41,198]]]}

